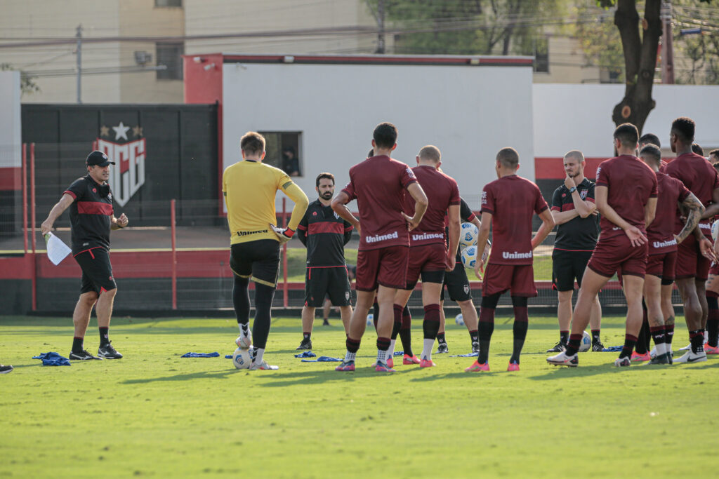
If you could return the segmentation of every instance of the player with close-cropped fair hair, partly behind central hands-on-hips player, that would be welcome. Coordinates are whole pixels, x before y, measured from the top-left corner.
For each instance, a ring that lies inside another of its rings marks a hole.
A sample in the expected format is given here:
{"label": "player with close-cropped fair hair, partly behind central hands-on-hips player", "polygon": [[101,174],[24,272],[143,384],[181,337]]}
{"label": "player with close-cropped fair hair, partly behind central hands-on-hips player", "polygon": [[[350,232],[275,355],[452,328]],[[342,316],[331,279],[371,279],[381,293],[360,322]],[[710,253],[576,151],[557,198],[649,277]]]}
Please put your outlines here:
{"label": "player with close-cropped fair hair, partly behind central hands-on-hips player", "polygon": [[[429,207],[417,228],[410,233],[407,287],[398,290],[394,304],[395,322],[398,318],[401,321],[402,311],[421,276],[424,341],[420,368],[435,366],[432,361],[432,348],[439,331],[439,297],[444,272],[454,269],[454,258],[459,245],[459,187],[454,178],[437,171],[441,164],[439,149],[429,145],[419,151],[417,166],[412,169],[427,195]],[[412,203],[405,197],[406,212],[413,212]],[[449,218],[449,248],[444,240],[445,215]],[[410,361],[405,358],[403,363],[411,364],[411,358]]]}

